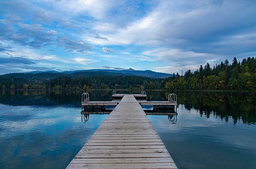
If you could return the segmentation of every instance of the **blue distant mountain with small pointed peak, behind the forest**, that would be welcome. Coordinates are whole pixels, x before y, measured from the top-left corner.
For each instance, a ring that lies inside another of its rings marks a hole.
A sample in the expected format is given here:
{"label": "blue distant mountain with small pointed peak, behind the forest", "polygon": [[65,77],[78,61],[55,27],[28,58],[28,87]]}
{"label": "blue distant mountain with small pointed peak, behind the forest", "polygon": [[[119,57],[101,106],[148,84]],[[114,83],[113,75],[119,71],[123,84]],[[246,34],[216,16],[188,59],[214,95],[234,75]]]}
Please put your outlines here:
{"label": "blue distant mountain with small pointed peak, behind the forest", "polygon": [[61,73],[72,74],[75,72],[111,72],[111,73],[132,74],[132,75],[136,75],[136,76],[145,76],[145,77],[151,77],[151,78],[166,78],[166,77],[173,76],[173,74],[168,74],[168,73],[154,72],[152,70],[134,70],[132,68],[124,69],[124,70],[89,69],[89,70],[65,71],[65,72],[61,72]]}

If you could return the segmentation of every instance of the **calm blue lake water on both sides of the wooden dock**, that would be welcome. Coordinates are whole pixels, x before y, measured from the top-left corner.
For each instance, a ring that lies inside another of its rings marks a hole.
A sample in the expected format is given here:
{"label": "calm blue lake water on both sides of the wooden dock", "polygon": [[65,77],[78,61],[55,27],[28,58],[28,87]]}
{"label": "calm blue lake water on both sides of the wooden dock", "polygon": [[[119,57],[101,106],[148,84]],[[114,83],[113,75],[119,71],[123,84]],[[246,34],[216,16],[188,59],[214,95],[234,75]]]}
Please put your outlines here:
{"label": "calm blue lake water on both sides of the wooden dock", "polygon": [[[136,93],[121,91],[117,93]],[[168,93],[148,91],[148,100]],[[182,92],[178,116],[148,116],[179,168],[255,168],[255,93]],[[81,119],[76,91],[0,91],[0,168],[65,168],[108,115]],[[111,100],[111,91],[90,99]]]}

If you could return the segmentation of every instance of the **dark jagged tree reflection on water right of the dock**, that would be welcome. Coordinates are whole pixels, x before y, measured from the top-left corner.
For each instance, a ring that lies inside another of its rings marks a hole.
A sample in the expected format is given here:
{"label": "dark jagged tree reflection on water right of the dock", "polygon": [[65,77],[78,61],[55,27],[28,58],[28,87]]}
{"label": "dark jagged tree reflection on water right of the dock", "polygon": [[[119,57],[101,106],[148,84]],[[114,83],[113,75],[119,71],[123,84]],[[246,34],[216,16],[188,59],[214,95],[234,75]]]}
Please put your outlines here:
{"label": "dark jagged tree reflection on water right of the dock", "polygon": [[195,108],[207,118],[214,114],[228,121],[256,123],[255,94],[242,92],[179,92],[178,102],[186,109]]}

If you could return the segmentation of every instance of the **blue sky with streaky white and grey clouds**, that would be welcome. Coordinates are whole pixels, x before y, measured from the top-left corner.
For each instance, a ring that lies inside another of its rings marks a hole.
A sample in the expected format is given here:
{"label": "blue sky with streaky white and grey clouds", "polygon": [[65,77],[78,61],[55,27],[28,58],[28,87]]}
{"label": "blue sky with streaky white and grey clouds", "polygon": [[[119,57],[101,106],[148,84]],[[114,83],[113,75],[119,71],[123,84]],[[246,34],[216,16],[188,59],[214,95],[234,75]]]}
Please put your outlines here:
{"label": "blue sky with streaky white and grey clouds", "polygon": [[181,74],[255,56],[256,1],[0,0],[0,74]]}

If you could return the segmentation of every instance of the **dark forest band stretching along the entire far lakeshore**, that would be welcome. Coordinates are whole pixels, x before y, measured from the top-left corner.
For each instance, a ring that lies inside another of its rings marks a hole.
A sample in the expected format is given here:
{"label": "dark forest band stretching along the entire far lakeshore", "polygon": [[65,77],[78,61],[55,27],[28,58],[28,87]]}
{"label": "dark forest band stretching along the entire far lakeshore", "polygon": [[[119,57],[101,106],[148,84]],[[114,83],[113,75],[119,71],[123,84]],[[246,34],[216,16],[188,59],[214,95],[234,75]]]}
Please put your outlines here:
{"label": "dark forest band stretching along the entire far lakeshore", "polygon": [[140,89],[144,90],[255,90],[256,60],[233,58],[211,67],[200,65],[196,71],[187,70],[184,75],[174,73],[168,78],[150,78],[135,75],[88,73],[79,76],[61,73],[10,73],[0,76],[0,89]]}

